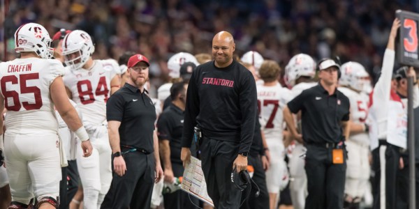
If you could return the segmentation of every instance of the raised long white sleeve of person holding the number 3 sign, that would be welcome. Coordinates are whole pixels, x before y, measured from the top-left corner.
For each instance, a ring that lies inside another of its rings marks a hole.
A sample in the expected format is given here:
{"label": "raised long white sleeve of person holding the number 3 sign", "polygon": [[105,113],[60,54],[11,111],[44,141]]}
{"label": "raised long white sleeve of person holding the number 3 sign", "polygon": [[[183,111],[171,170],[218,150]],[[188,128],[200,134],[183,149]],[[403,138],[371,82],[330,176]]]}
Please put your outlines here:
{"label": "raised long white sleeve of person holding the number 3 sign", "polygon": [[390,89],[392,68],[395,63],[395,51],[385,49],[383,57],[383,67],[381,68],[381,76],[374,87],[372,95],[372,105],[376,109],[376,120],[378,123],[378,137],[385,137],[387,129],[388,103],[390,102]]}

